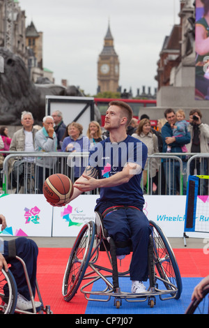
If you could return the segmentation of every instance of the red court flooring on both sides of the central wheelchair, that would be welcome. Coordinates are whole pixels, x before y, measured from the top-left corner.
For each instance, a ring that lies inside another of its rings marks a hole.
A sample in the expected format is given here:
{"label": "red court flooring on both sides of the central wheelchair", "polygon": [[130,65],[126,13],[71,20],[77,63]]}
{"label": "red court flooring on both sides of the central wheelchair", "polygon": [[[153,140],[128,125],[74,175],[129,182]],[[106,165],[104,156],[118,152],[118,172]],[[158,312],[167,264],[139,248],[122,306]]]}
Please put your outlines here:
{"label": "red court flooring on both sides of the central wheelchair", "polygon": [[[173,252],[182,278],[204,277],[209,274],[209,255],[204,254],[203,249],[176,248]],[[84,314],[88,304],[79,291],[69,303],[63,299],[63,275],[69,255],[69,248],[39,248],[38,285],[43,303],[51,306],[54,314]],[[101,262],[106,262],[103,255]]]}

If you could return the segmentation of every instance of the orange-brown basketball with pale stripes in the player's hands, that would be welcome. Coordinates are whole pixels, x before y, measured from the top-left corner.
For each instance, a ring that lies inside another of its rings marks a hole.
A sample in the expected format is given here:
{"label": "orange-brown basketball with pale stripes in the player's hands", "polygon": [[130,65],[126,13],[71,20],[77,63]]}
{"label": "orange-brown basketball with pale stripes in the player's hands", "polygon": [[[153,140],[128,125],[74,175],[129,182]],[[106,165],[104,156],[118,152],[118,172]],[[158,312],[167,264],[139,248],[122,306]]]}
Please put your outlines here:
{"label": "orange-brown basketball with pale stripes in the player's hands", "polygon": [[73,184],[64,174],[52,174],[45,180],[42,192],[52,206],[65,206],[72,197]]}

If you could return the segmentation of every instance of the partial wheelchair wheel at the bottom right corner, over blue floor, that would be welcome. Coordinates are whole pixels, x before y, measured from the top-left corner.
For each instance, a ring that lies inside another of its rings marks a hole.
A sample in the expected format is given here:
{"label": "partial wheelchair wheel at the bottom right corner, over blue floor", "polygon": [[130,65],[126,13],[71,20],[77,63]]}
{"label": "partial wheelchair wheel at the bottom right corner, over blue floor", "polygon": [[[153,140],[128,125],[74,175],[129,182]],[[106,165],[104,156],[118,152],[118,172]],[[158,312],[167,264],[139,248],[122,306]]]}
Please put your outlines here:
{"label": "partial wheelchair wheel at the bottom right corner, over blue floor", "polygon": [[185,314],[209,314],[209,285],[203,288],[203,298],[192,301]]}

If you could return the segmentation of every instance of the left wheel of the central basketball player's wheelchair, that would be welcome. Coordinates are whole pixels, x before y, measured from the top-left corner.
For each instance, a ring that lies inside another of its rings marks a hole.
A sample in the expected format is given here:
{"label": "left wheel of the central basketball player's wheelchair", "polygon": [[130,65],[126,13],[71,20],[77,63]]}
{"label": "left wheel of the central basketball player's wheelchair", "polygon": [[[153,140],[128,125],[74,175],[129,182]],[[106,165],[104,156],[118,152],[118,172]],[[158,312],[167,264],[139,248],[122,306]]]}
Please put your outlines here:
{"label": "left wheel of the central basketball player's wheelchair", "polygon": [[79,285],[82,283],[88,261],[91,258],[94,238],[95,223],[90,221],[79,232],[70,253],[63,278],[62,292],[65,301],[70,301],[75,296]]}

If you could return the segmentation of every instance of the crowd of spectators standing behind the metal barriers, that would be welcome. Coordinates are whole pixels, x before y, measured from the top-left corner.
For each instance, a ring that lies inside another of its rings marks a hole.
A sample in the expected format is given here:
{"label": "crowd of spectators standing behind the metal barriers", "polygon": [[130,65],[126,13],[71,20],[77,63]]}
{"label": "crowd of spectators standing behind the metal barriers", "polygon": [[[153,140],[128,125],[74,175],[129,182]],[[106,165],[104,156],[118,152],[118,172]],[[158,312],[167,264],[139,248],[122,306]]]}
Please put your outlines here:
{"label": "crowd of spectators standing behind the metal barriers", "polygon": [[[97,121],[91,121],[86,135],[83,135],[83,126],[77,122],[65,125],[63,115],[59,110],[52,112],[52,116],[44,117],[42,126],[34,126],[31,112],[22,112],[22,128],[16,131],[12,138],[8,135],[8,128],[0,128],[0,167],[10,152],[68,152],[75,154],[88,152],[98,142],[108,137],[107,131],[102,131]],[[139,121],[133,118],[127,127],[127,135],[132,135],[146,144],[148,160],[143,172],[144,193],[157,195],[178,195],[180,193],[180,179],[183,173],[183,195],[187,188],[187,161],[189,155],[208,153],[209,126],[203,123],[201,110],[191,110],[189,117],[185,117],[183,110],[174,112],[169,108],[164,112],[164,118],[158,119],[157,126],[152,127],[148,115],[141,115]],[[3,151],[6,151],[5,153]],[[166,154],[164,154],[166,153]],[[59,153],[61,154],[61,153]],[[11,186],[17,187],[24,179],[25,170],[30,174],[31,192],[36,190],[42,193],[43,181],[54,173],[54,167],[61,170],[63,161],[52,157],[13,157],[9,161],[8,173],[12,174]],[[169,156],[175,154],[182,161],[169,161]],[[164,156],[162,156],[164,155]],[[69,165],[69,163],[68,163]],[[70,166],[70,165],[69,165]],[[73,163],[70,177],[75,181],[84,171],[86,163],[79,158]],[[180,172],[182,168],[183,172]],[[173,172],[173,174],[171,174]],[[195,158],[190,163],[189,174],[208,175],[208,158]],[[203,186],[206,192],[206,186]],[[19,190],[17,188],[17,190]]]}

